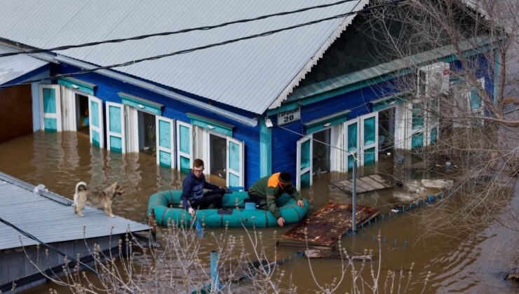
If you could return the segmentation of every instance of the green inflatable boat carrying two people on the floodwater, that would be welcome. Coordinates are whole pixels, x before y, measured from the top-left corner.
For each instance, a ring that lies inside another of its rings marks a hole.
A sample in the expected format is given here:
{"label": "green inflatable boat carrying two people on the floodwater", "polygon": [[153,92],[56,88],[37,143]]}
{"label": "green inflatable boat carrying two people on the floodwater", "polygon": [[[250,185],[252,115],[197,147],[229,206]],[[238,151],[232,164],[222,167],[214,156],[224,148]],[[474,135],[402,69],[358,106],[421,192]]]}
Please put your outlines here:
{"label": "green inflatable boat carrying two people on the floodwater", "polygon": [[[167,190],[151,195],[148,216],[154,211],[157,224],[162,226],[168,225],[168,222],[190,225],[191,216],[182,208],[181,195],[181,190]],[[304,218],[309,205],[306,200],[303,201],[304,207],[301,208],[289,195],[279,197],[277,204],[285,223],[299,223]],[[196,212],[196,218],[205,224],[206,228],[225,225],[229,225],[229,228],[267,228],[278,225],[276,217],[268,209],[256,209],[255,204],[249,202],[247,191],[225,194],[222,204],[227,209],[200,209]]]}

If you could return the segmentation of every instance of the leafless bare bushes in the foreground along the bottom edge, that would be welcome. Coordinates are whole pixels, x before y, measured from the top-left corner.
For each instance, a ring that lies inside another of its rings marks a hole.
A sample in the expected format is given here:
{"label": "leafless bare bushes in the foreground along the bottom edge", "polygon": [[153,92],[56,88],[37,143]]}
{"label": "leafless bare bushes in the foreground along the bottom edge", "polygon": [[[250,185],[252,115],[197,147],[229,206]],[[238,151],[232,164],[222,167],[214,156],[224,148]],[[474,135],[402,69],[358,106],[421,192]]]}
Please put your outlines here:
{"label": "leafless bare bushes in the foreground along the bottom edge", "polygon": [[[161,246],[143,246],[130,233],[125,240],[114,240],[119,244],[116,255],[103,253],[106,248],[94,245],[90,254],[98,275],[87,274],[78,263],[67,257],[63,274],[41,273],[60,286],[50,289],[50,293],[62,290],[67,293],[239,293],[250,290],[255,293],[297,293],[292,276],[283,270],[285,258],[279,258],[276,251],[269,254],[265,251],[274,242],[264,239],[257,230],[244,229],[246,235],[241,238],[228,235],[227,230],[220,235],[210,235],[218,253],[217,279],[213,279],[208,260],[202,253],[202,244],[207,237],[201,239],[193,228],[176,225],[161,230]],[[85,244],[88,246],[87,242]],[[405,293],[413,284],[422,290],[427,288],[430,273],[424,281],[413,281],[414,265],[410,269],[387,272],[382,282],[380,233],[377,252],[376,261],[371,257],[355,258],[342,248],[339,241],[336,253],[340,258],[335,262],[342,266],[329,283],[323,283],[323,276],[314,272],[311,258],[307,258],[316,290],[335,293],[347,288],[351,293]],[[44,256],[48,257],[48,249],[45,249]],[[372,256],[372,251],[365,250],[362,256]],[[356,260],[361,261],[358,263]],[[30,258],[29,261],[35,267],[45,264]],[[330,280],[329,276],[325,278]],[[245,288],[236,284],[240,280],[239,283],[245,283]]]}

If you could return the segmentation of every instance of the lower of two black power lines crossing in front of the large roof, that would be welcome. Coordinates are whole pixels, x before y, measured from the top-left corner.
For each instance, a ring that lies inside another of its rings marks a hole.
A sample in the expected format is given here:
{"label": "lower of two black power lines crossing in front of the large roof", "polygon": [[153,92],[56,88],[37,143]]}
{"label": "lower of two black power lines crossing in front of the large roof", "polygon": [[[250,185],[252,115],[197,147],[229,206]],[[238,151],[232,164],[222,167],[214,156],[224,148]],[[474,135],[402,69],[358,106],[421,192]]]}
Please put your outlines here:
{"label": "lower of two black power lines crossing in front of the large roof", "polygon": [[328,18],[321,18],[321,19],[318,19],[318,20],[313,20],[311,22],[304,22],[304,23],[299,24],[299,25],[292,25],[290,27],[283,27],[281,29],[274,29],[274,30],[271,30],[271,31],[264,31],[264,32],[262,32],[260,34],[253,34],[253,35],[244,36],[244,37],[241,37],[241,38],[234,38],[234,39],[231,39],[231,40],[222,41],[220,43],[212,43],[212,44],[203,45],[203,46],[199,46],[199,47],[195,47],[195,48],[189,48],[189,49],[179,50],[179,51],[175,51],[175,52],[171,52],[171,53],[166,53],[166,54],[163,54],[163,55],[155,55],[155,56],[151,56],[151,57],[144,57],[144,58],[135,59],[135,60],[132,60],[132,61],[129,61],[129,62],[123,62],[123,63],[119,63],[119,64],[111,64],[111,65],[107,65],[107,66],[97,66],[97,67],[94,67],[93,69],[83,69],[81,71],[76,71],[74,73],[62,73],[62,74],[58,74],[58,75],[55,75],[55,76],[49,76],[49,77],[46,77],[46,78],[38,78],[38,79],[34,79],[34,80],[26,80],[26,81],[24,81],[22,83],[0,85],[0,88],[12,87],[12,86],[15,86],[15,85],[25,85],[25,84],[29,84],[29,83],[36,83],[36,82],[41,82],[43,80],[51,80],[51,79],[54,79],[54,78],[66,78],[66,77],[69,77],[69,76],[76,76],[76,75],[80,75],[80,74],[83,74],[83,73],[90,73],[90,72],[93,72],[93,71],[99,71],[99,70],[102,70],[102,69],[113,69],[113,68],[116,68],[116,67],[130,66],[132,64],[136,64],[136,63],[140,63],[140,62],[144,62],[144,61],[151,61],[151,60],[155,60],[155,59],[161,59],[161,58],[164,58],[164,57],[171,57],[171,56],[174,56],[174,55],[186,54],[186,53],[189,53],[189,52],[194,52],[194,51],[198,51],[198,50],[213,48],[213,47],[217,47],[217,46],[221,46],[221,45],[227,45],[229,43],[236,43],[238,41],[248,40],[248,39],[252,39],[252,38],[259,38],[259,37],[262,37],[262,36],[270,36],[272,34],[276,34],[276,33],[279,33],[281,31],[288,31],[290,29],[297,29],[299,27],[306,27],[306,26],[309,26],[309,25],[315,25],[317,23],[325,22],[327,20],[334,20],[334,19],[337,19],[337,18],[344,18],[346,16],[357,14],[357,13],[368,12],[368,11],[373,10],[375,8],[380,8],[380,7],[383,7],[383,6],[389,6],[391,4],[396,4],[396,3],[401,2],[401,1],[404,1],[404,0],[394,0],[394,1],[391,1],[391,2],[388,2],[388,3],[382,3],[382,4],[379,4],[379,5],[375,5],[375,6],[370,6],[368,8],[363,8],[363,9],[360,9],[360,10],[351,11],[349,13],[342,13],[342,14],[339,14],[339,15],[330,16]]}

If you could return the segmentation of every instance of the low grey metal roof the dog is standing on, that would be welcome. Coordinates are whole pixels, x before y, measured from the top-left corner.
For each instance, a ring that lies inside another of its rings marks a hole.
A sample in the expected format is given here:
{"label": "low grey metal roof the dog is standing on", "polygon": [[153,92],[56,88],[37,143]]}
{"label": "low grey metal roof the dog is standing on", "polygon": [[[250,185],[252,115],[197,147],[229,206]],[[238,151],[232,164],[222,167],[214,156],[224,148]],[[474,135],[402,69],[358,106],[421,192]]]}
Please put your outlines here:
{"label": "low grey metal roof the dog is standing on", "polygon": [[[15,185],[16,183],[16,185]],[[74,214],[70,200],[53,193],[48,197],[34,195],[34,186],[0,173],[0,218],[13,223],[46,243],[70,241],[85,238],[118,235],[127,230],[132,232],[148,230],[147,225],[116,216],[111,218],[104,211],[85,207],[82,218]],[[31,188],[32,189],[32,188]],[[65,204],[63,204],[65,203]],[[20,247],[20,232],[0,223],[0,250]],[[37,244],[22,237],[24,246]]]}

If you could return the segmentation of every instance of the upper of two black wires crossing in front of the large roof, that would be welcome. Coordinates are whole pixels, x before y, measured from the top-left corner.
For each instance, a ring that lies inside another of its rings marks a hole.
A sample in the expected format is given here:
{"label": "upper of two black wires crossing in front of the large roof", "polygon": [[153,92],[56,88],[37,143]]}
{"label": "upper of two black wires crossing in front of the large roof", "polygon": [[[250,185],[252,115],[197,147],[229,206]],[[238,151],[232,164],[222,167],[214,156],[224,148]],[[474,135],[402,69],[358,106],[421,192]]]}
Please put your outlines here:
{"label": "upper of two black wires crossing in front of the large roof", "polygon": [[8,53],[0,54],[0,57],[13,56],[13,55],[18,55],[18,54],[34,54],[34,53],[43,53],[43,52],[48,52],[48,51],[67,50],[67,49],[72,49],[72,48],[89,47],[89,46],[93,46],[93,45],[100,45],[100,44],[106,44],[106,43],[121,43],[124,41],[136,41],[136,40],[142,40],[144,38],[150,38],[153,36],[170,36],[170,35],[174,35],[174,34],[187,33],[189,31],[207,31],[209,29],[227,27],[228,25],[241,24],[241,23],[245,23],[245,22],[253,22],[256,20],[264,20],[267,18],[272,18],[274,16],[290,15],[293,13],[301,13],[304,11],[314,10],[317,8],[326,8],[326,7],[330,7],[330,6],[336,6],[336,5],[346,3],[346,2],[351,2],[351,1],[355,1],[355,0],[337,1],[334,3],[322,4],[322,5],[317,5],[317,6],[309,6],[309,7],[305,7],[305,8],[301,8],[301,9],[297,9],[297,10],[285,11],[285,12],[281,12],[281,13],[272,13],[272,14],[267,14],[267,15],[261,15],[261,16],[258,16],[257,18],[245,18],[242,20],[233,20],[231,22],[222,22],[221,24],[218,24],[218,25],[194,27],[191,29],[180,29],[178,31],[163,31],[161,33],[144,34],[144,35],[139,35],[139,36],[133,36],[130,38],[114,38],[114,39],[105,40],[105,41],[95,41],[95,42],[81,43],[81,44],[76,44],[76,45],[62,45],[62,46],[47,48],[47,49],[34,49],[34,50],[20,51],[20,52],[8,52]]}

